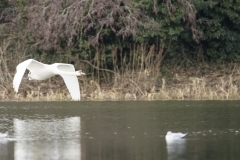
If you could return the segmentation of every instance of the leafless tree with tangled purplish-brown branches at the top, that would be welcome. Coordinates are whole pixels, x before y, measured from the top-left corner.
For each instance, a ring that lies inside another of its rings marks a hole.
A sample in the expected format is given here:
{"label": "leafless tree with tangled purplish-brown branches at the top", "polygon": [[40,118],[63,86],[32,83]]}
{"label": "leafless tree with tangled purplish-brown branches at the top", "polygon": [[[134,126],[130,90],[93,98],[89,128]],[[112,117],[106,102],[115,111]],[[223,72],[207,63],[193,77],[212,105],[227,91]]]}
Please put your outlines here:
{"label": "leafless tree with tangled purplish-brown branches at the top", "polygon": [[27,13],[26,31],[45,49],[68,47],[82,37],[97,45],[106,34],[124,39],[157,28],[131,0],[33,0]]}

